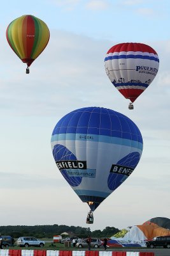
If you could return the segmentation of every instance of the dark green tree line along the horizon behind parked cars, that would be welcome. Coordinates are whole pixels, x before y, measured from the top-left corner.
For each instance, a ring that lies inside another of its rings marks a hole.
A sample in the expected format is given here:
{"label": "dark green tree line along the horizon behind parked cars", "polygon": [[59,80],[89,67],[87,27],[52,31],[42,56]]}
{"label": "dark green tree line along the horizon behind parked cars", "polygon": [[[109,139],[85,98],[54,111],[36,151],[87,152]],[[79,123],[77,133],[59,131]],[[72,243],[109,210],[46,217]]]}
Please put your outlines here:
{"label": "dark green tree line along the horizon behind parked cars", "polygon": [[[90,228],[74,227],[67,225],[34,225],[34,226],[0,226],[0,233],[2,236],[34,236],[37,238],[52,238],[55,235],[60,235],[63,232],[69,232],[78,237],[111,237],[120,230],[115,227],[106,227],[102,231],[90,231]],[[64,236],[62,236],[64,237]],[[65,236],[66,237],[66,236]]]}

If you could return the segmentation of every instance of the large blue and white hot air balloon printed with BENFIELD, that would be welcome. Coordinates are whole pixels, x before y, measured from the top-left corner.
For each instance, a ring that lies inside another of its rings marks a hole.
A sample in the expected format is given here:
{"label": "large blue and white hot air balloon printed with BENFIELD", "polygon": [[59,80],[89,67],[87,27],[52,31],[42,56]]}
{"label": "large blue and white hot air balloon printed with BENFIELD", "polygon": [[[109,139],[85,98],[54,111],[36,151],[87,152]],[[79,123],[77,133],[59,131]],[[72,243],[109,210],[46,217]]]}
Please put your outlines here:
{"label": "large blue and white hot air balloon printed with BENFIELD", "polygon": [[131,119],[96,107],[62,117],[51,145],[59,172],[89,205],[89,214],[131,175],[143,150],[141,132]]}

